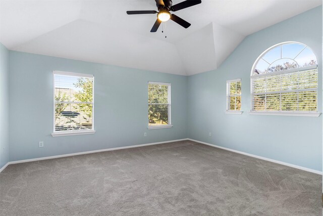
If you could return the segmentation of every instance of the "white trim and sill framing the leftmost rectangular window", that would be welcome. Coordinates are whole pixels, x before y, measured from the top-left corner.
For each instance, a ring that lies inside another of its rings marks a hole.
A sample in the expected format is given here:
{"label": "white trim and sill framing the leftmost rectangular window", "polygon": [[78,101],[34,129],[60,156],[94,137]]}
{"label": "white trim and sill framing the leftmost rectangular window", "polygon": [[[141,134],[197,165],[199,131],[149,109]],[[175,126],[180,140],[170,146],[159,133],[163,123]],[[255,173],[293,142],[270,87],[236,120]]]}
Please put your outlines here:
{"label": "white trim and sill framing the leftmost rectangular window", "polygon": [[[55,78],[53,78],[53,133],[51,134],[52,137],[62,137],[62,136],[74,136],[74,135],[87,135],[87,134],[94,134],[94,75],[93,74],[86,74],[86,73],[74,73],[74,72],[67,72],[67,71],[59,71],[53,70],[53,75],[66,75],[66,76],[80,76],[80,77],[87,77],[93,79],[93,89],[92,89],[92,129],[82,129],[82,131],[61,131],[55,132]],[[78,103],[78,102],[75,102]],[[82,102],[79,102],[82,103]]]}

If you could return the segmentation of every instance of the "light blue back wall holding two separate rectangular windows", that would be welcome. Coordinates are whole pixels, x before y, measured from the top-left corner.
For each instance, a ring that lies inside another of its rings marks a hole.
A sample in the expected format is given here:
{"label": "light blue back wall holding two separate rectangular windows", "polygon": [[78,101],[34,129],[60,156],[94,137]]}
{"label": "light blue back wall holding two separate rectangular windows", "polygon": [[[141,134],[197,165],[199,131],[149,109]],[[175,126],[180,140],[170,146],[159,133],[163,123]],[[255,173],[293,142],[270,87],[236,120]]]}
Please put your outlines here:
{"label": "light blue back wall holding two separate rectangular windows", "polygon": [[[95,134],[51,137],[52,70],[94,74]],[[171,82],[173,128],[147,129],[148,81]],[[186,101],[186,76],[10,51],[10,160],[187,138]]]}

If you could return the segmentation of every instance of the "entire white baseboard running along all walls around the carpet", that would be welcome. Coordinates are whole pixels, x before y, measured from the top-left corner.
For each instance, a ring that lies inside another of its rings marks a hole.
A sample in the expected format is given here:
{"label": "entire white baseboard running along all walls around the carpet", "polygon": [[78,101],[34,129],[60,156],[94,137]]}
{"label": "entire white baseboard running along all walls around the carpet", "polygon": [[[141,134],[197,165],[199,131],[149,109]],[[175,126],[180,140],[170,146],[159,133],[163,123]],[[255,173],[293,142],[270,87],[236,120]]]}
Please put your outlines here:
{"label": "entire white baseboard running along all walls around the carpet", "polygon": [[306,167],[303,167],[303,166],[294,165],[294,164],[291,164],[291,163],[285,163],[285,162],[282,162],[282,161],[279,161],[279,160],[274,160],[274,159],[270,159],[270,158],[266,158],[266,157],[261,157],[261,156],[257,156],[257,155],[254,155],[254,154],[249,154],[249,153],[245,153],[245,152],[242,152],[242,151],[237,151],[237,150],[233,150],[233,149],[229,149],[229,148],[225,148],[225,147],[222,147],[222,146],[217,146],[217,145],[213,145],[213,144],[209,144],[209,143],[205,143],[205,142],[201,142],[201,141],[193,140],[193,139],[189,139],[189,138],[180,139],[180,140],[170,140],[170,141],[164,141],[164,142],[157,142],[157,143],[147,143],[147,144],[134,145],[134,146],[124,146],[124,147],[100,149],[100,150],[93,150],[93,151],[86,151],[86,152],[77,152],[77,153],[55,155],[55,156],[49,156],[49,157],[32,158],[32,159],[26,159],[26,160],[10,161],[6,165],[4,165],[2,168],[0,168],[0,172],[2,172],[10,164],[32,162],[32,161],[37,161],[37,160],[48,160],[48,159],[54,159],[54,158],[60,158],[60,157],[70,157],[70,156],[75,156],[75,155],[91,154],[91,153],[104,152],[104,151],[113,151],[113,150],[119,150],[119,149],[137,148],[137,147],[151,146],[151,145],[164,144],[164,143],[173,143],[173,142],[185,141],[185,140],[190,140],[190,141],[201,143],[201,144],[204,144],[204,145],[224,149],[224,150],[235,152],[235,153],[238,153],[238,154],[243,154],[243,155],[258,158],[258,159],[261,159],[261,160],[266,160],[266,161],[282,164],[282,165],[285,165],[285,166],[290,166],[290,167],[293,167],[293,168],[313,172],[313,173],[318,174],[318,175],[322,175],[321,171],[318,171],[318,170],[315,170],[315,169],[310,169],[310,168],[306,168]]}

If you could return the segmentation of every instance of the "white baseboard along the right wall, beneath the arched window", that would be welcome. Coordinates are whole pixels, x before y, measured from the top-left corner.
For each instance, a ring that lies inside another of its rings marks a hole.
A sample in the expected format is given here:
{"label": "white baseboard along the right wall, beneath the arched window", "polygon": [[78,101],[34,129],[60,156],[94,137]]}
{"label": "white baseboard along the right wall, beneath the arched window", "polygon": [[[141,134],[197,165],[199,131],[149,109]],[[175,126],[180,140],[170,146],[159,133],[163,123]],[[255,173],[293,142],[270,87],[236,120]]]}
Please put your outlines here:
{"label": "white baseboard along the right wall, beneath the arched window", "polygon": [[242,151],[237,151],[237,150],[233,150],[233,149],[229,149],[229,148],[225,148],[225,147],[222,147],[222,146],[217,146],[217,145],[213,145],[213,144],[209,144],[209,143],[205,143],[205,142],[201,142],[201,141],[197,141],[197,140],[193,140],[193,139],[187,139],[187,140],[197,142],[197,143],[201,143],[201,144],[208,145],[208,146],[212,146],[212,147],[216,147],[216,148],[219,148],[219,149],[224,149],[224,150],[227,150],[227,151],[235,152],[235,153],[238,153],[238,154],[243,154],[243,155],[247,155],[247,156],[250,156],[250,157],[255,157],[255,158],[258,158],[258,159],[261,159],[261,160],[266,160],[266,161],[270,161],[270,162],[273,162],[273,163],[278,163],[278,164],[282,164],[282,165],[285,165],[285,166],[290,166],[290,167],[293,167],[293,168],[313,172],[313,173],[318,174],[318,175],[322,175],[321,171],[318,171],[318,170],[315,170],[315,169],[310,169],[310,168],[306,168],[306,167],[303,167],[303,166],[294,165],[294,164],[291,164],[291,163],[285,163],[285,162],[282,162],[282,161],[279,161],[279,160],[274,160],[274,159],[270,159],[270,158],[266,158],[266,157],[261,157],[261,156],[257,156],[257,155],[254,155],[254,154],[249,154],[249,153],[245,153],[245,152],[242,152]]}

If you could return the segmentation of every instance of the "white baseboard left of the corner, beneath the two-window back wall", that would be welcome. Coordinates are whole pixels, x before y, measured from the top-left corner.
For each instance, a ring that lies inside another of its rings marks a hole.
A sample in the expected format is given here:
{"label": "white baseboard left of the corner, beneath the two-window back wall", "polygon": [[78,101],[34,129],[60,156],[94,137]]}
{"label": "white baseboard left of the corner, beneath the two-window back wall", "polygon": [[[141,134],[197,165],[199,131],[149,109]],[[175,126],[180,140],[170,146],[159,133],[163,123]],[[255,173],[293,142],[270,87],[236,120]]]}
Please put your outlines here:
{"label": "white baseboard left of the corner, beneath the two-window back wall", "polygon": [[93,150],[93,151],[86,151],[86,152],[77,152],[77,153],[62,154],[62,155],[55,155],[55,156],[48,156],[48,157],[39,157],[39,158],[32,158],[32,159],[26,159],[26,160],[10,161],[2,169],[0,169],[0,172],[3,169],[5,169],[9,164],[26,163],[26,162],[32,162],[32,161],[37,161],[37,160],[48,160],[48,159],[54,159],[54,158],[60,158],[60,157],[70,157],[70,156],[75,156],[75,155],[91,154],[91,153],[104,152],[104,151],[113,151],[113,150],[119,150],[119,149],[137,148],[137,147],[142,147],[142,146],[151,146],[151,145],[164,144],[164,143],[173,143],[173,142],[184,141],[184,140],[187,140],[187,139],[170,140],[170,141],[157,142],[157,143],[147,143],[147,144],[134,145],[134,146],[124,146],[124,147],[100,149],[100,150]]}

